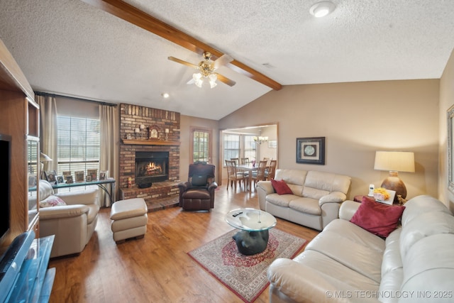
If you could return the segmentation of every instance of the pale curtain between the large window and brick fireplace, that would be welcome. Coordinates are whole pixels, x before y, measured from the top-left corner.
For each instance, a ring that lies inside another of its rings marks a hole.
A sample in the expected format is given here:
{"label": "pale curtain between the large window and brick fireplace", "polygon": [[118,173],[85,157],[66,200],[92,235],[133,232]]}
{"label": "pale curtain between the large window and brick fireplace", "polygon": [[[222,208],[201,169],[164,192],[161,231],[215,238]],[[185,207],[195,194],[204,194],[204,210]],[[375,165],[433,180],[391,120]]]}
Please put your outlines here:
{"label": "pale curtain between the large window and brick fireplace", "polygon": [[[101,121],[101,156],[99,158],[99,170],[108,170],[108,177],[113,177],[115,180],[118,180],[120,128],[117,108],[104,104],[99,105],[99,120]],[[111,201],[109,196],[102,190],[99,192],[101,193],[101,199],[99,199],[101,206],[110,206]]]}

